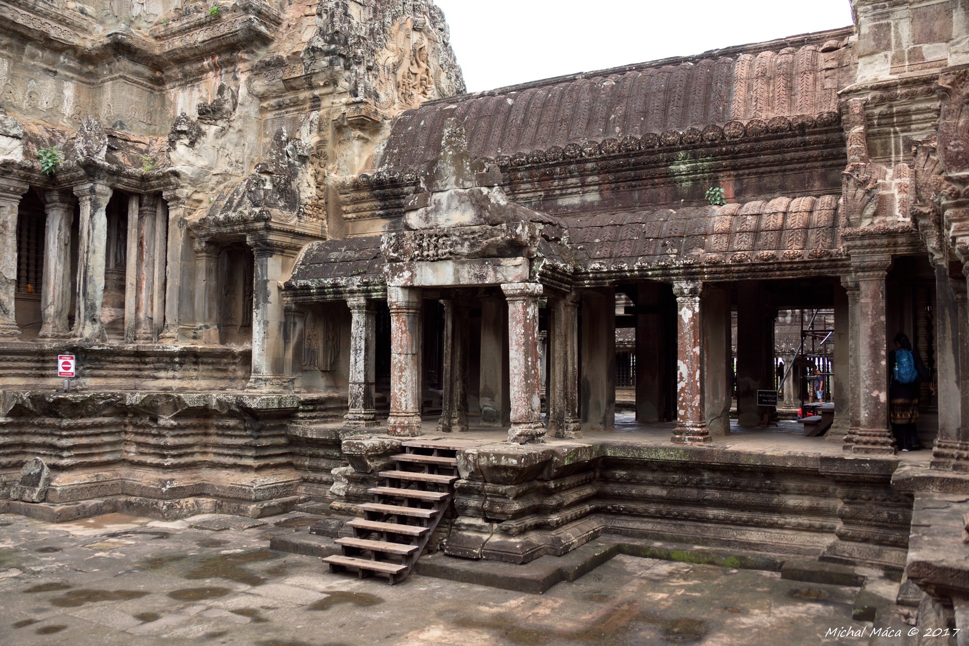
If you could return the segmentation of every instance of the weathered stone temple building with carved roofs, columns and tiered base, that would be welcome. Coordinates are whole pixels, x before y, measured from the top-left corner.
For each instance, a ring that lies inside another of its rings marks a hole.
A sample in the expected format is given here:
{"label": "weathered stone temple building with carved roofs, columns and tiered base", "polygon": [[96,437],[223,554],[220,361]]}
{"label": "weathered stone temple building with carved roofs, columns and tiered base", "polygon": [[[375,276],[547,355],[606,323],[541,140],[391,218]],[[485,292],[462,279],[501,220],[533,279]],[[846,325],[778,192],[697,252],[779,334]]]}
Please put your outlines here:
{"label": "weathered stone temple building with carved roofs, columns and tiered base", "polygon": [[[391,582],[783,554],[969,630],[965,0],[475,94],[430,0],[89,1],[0,3],[0,511],[303,511]],[[797,309],[814,438],[757,430]]]}

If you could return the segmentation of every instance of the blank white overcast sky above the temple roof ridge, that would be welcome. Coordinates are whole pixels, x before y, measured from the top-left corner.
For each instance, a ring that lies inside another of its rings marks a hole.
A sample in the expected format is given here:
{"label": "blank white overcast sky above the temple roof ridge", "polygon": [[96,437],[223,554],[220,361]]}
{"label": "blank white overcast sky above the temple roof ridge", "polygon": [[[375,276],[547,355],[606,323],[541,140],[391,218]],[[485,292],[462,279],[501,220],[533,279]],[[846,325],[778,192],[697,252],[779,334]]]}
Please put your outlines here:
{"label": "blank white overcast sky above the temple roof ridge", "polygon": [[848,0],[435,0],[469,92],[852,22]]}

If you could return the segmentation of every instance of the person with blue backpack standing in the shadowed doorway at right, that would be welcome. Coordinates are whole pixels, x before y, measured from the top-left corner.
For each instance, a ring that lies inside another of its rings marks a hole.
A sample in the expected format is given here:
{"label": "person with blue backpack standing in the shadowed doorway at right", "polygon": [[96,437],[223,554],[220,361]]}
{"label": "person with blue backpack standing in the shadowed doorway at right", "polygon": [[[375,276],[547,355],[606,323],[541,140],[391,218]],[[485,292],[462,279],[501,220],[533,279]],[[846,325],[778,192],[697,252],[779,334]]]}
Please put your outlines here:
{"label": "person with blue backpack standing in the shadowed doorway at right", "polygon": [[903,451],[918,450],[919,434],[916,423],[919,421],[919,391],[922,382],[935,394],[935,385],[918,350],[912,349],[908,337],[899,332],[895,335],[895,349],[889,353],[891,386],[889,387],[889,412],[891,414],[891,433],[895,443]]}

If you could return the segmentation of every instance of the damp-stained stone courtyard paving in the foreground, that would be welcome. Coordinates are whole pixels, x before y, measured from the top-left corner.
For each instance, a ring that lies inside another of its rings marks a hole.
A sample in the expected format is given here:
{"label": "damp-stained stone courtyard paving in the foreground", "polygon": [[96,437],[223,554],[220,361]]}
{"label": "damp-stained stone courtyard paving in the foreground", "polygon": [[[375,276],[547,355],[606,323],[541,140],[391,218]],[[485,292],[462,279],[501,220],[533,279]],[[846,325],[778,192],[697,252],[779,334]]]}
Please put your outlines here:
{"label": "damp-stained stone courtyard paving in the foreground", "polygon": [[851,618],[858,588],[777,572],[617,556],[528,595],[418,575],[389,586],[267,548],[313,518],[0,515],[0,644],[868,643],[825,636],[870,631]]}

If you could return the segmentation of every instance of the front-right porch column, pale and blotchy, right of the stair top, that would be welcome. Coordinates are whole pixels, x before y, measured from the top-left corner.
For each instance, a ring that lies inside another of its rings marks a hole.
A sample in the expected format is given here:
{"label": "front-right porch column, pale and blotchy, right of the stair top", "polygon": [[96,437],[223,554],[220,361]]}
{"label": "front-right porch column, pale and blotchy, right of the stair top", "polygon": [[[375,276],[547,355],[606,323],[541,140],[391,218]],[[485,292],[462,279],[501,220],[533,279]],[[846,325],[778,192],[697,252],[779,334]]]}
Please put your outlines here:
{"label": "front-right porch column, pale and blotchy, right of the stair top", "polygon": [[539,387],[542,365],[539,358],[539,296],[537,283],[509,283],[501,286],[508,300],[509,394],[512,428],[508,441],[519,445],[545,442],[542,400]]}

